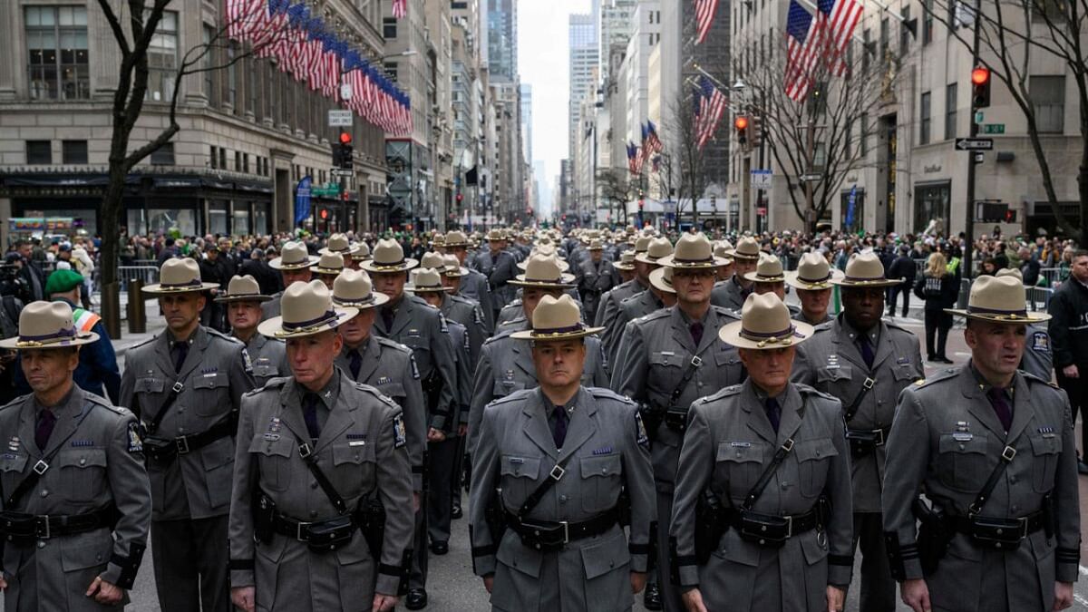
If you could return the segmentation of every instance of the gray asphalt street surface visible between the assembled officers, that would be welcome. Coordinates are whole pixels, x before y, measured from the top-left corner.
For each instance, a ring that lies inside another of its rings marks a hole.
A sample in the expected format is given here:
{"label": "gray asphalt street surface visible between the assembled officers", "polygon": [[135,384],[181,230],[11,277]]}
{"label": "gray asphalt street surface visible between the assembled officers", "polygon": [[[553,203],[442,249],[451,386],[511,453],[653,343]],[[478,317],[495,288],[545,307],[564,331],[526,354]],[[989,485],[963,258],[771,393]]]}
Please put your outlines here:
{"label": "gray asphalt street surface visible between the assembled officers", "polygon": [[[911,329],[919,336],[923,333],[922,326],[918,321],[912,319],[897,319],[904,327]],[[923,346],[923,350],[925,347]],[[949,357],[954,359],[957,364],[966,362],[969,357],[966,344],[963,341],[963,333],[959,329],[952,330],[949,336]],[[124,364],[122,363],[122,367]],[[951,366],[930,366],[927,364],[926,371],[932,372],[940,367],[951,367]],[[1077,427],[1080,427],[1078,424]],[[1088,533],[1088,478],[1081,479],[1080,488],[1080,513],[1081,513],[1081,531]],[[468,509],[467,502],[465,507]],[[1085,538],[1088,542],[1088,538]],[[1083,562],[1088,564],[1088,543],[1081,544],[1080,552]],[[860,561],[860,558],[858,558]],[[1088,610],[1088,568],[1085,565],[1080,567],[1081,575],[1084,578],[1076,585],[1076,602],[1074,603],[1074,610]],[[850,589],[850,593],[846,599],[846,610],[850,612],[858,612],[857,607],[857,589],[858,589],[858,576],[861,575],[860,565],[854,567],[854,583]],[[465,519],[454,522],[454,533],[453,538],[449,542],[449,554],[445,556],[431,556],[431,576],[429,578],[430,588],[428,588],[428,595],[430,597],[430,605],[426,610],[433,612],[448,612],[448,611],[477,611],[477,610],[487,610],[487,592],[483,588],[483,583],[472,575],[472,562],[469,555],[469,542],[468,542],[468,527]],[[156,598],[156,587],[154,587],[154,575],[151,570],[151,553],[150,550],[148,554],[144,558],[144,565],[139,572],[139,577],[136,582],[136,588],[133,589],[132,593],[132,604],[128,607],[131,611],[137,612],[158,612],[159,604]],[[642,611],[642,598],[641,596],[636,598],[636,611]],[[403,610],[403,604],[398,607],[398,610]],[[900,611],[908,611],[910,609],[903,605],[899,605]]]}

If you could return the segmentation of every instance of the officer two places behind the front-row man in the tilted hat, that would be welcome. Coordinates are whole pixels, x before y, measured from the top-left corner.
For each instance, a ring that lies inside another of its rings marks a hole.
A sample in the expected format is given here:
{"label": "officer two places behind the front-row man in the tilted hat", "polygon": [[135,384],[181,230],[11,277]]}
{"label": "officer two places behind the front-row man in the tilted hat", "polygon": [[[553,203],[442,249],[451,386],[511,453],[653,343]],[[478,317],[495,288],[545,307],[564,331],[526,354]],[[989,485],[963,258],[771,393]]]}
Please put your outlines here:
{"label": "officer two places behind the front-row man in the tilted hat", "polygon": [[[418,261],[405,258],[404,249],[393,240],[379,241],[373,258],[363,262],[374,289],[390,301],[378,307],[373,330],[379,335],[411,348],[419,367],[426,401],[428,442],[441,442],[457,430],[457,357],[449,341],[445,317],[422,298],[405,295],[408,270]],[[426,460],[424,460],[424,470]],[[416,547],[405,607],[420,610],[426,605],[426,523],[425,512],[417,518]]]}

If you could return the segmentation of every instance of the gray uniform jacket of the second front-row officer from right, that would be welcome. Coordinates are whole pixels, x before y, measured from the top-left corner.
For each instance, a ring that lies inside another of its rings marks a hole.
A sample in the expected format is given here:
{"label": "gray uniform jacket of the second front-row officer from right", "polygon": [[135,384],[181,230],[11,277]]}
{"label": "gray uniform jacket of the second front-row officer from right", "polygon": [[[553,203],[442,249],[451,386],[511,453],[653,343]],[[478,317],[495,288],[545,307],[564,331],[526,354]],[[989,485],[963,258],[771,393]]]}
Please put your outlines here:
{"label": "gray uniform jacket of the second front-row officer from right", "polygon": [[[827,586],[850,584],[853,522],[842,405],[803,384],[789,384],[778,400],[777,433],[751,382],[728,387],[691,406],[669,535],[676,538],[681,560],[680,584],[697,585],[707,610],[826,610]],[[709,487],[725,507],[740,507],[790,438],[793,451],[752,510],[798,515],[824,495],[831,502],[824,529],[798,534],[775,549],[745,541],[730,528],[706,565],[696,565],[695,504],[703,490]]]}

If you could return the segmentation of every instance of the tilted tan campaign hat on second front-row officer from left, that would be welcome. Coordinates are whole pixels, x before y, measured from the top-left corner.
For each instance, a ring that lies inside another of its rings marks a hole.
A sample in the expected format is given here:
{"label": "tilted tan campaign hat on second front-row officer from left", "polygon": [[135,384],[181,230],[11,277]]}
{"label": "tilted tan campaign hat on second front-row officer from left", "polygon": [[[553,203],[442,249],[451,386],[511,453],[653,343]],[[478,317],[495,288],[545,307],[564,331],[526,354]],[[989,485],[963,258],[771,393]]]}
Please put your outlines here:
{"label": "tilted tan campaign hat on second front-row officer from left", "polygon": [[280,311],[281,316],[257,326],[257,331],[281,340],[301,338],[336,329],[359,314],[358,308],[334,306],[332,292],[321,281],[293,283],[283,292]]}

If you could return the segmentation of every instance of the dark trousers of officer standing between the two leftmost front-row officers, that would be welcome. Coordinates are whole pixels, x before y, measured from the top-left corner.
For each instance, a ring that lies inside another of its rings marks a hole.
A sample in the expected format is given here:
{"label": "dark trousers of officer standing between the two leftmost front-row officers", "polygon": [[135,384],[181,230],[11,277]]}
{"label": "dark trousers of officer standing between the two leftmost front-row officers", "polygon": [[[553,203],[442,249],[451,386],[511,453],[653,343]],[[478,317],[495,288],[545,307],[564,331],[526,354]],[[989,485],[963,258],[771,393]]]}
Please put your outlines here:
{"label": "dark trousers of officer standing between the two leftmost front-row officers", "polygon": [[228,612],[227,517],[151,522],[154,587],[162,612]]}

